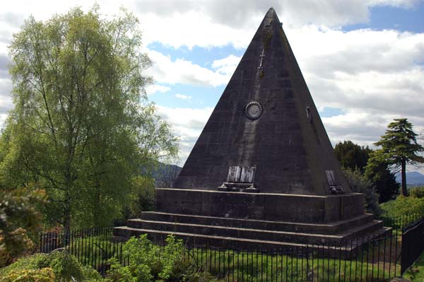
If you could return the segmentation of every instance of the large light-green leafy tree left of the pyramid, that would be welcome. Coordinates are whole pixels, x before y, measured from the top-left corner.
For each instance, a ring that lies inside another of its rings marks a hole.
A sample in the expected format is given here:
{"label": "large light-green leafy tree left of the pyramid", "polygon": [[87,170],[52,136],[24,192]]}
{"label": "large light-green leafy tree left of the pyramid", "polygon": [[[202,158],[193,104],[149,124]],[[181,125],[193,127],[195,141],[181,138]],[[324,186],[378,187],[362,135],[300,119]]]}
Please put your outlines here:
{"label": "large light-green leafy tree left of the pyramid", "polygon": [[129,206],[141,168],[177,153],[144,94],[151,61],[137,26],[126,11],[106,20],[94,6],[31,17],[13,36],[15,107],[0,139],[0,187],[40,184],[52,225],[109,225]]}

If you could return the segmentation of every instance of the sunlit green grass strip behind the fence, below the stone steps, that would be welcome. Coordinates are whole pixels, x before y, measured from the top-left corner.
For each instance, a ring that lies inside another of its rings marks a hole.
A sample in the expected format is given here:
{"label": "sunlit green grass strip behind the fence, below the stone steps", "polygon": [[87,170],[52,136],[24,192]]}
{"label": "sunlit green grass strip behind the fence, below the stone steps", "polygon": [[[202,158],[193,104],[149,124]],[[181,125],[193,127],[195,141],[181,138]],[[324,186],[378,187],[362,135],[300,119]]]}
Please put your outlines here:
{"label": "sunlit green grass strip behind the fence, below the stone steps", "polygon": [[189,255],[203,271],[224,281],[377,281],[393,277],[395,268],[399,274],[399,265],[381,256],[378,261],[377,252],[378,245],[341,259],[323,258],[317,252],[305,256],[213,249],[192,249]]}

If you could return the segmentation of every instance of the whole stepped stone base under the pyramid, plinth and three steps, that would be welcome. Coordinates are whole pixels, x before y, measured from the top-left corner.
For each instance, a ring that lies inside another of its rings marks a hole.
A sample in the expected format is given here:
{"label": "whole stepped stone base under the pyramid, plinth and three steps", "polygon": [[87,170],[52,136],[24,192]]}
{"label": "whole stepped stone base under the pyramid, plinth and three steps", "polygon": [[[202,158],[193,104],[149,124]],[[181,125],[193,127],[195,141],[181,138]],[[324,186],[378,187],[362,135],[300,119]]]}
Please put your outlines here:
{"label": "whole stepped stone base under the pyramid, plinth and three steps", "polygon": [[[372,214],[363,213],[362,194],[302,196],[189,189],[157,189],[156,193],[158,211],[143,212],[126,226],[114,228],[115,236],[147,233],[153,241],[163,242],[174,234],[196,246],[281,249],[337,246],[391,232]],[[355,247],[335,250],[351,252]]]}

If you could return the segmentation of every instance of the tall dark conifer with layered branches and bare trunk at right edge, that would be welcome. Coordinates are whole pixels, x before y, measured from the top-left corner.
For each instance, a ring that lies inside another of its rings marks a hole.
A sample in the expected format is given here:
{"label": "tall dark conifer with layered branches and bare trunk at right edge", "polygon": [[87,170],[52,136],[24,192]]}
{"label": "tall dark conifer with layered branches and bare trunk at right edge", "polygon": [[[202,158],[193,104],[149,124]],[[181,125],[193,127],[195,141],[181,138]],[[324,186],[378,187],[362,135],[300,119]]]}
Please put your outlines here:
{"label": "tall dark conifer with layered branches and bare trunk at right edge", "polygon": [[412,124],[407,119],[394,119],[386,130],[386,134],[381,136],[375,146],[382,148],[375,151],[370,158],[371,163],[376,166],[387,163],[393,172],[401,171],[402,194],[408,196],[406,187],[406,164],[417,165],[424,163],[424,158],[418,153],[424,151],[424,147],[418,144],[417,136]]}

